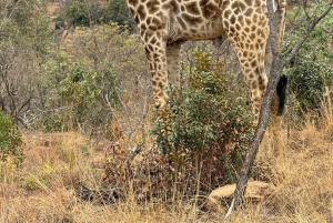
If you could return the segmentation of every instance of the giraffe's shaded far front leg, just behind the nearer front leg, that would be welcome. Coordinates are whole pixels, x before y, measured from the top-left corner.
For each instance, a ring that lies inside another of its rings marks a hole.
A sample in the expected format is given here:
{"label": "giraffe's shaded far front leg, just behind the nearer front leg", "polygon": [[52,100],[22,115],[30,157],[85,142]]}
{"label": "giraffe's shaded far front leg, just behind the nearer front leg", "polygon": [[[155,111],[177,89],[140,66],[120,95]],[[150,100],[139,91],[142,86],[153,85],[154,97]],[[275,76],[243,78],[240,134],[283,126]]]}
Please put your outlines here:
{"label": "giraffe's shaded far front leg, just behind the nearer front leg", "polygon": [[179,59],[182,42],[167,44],[168,79],[172,87],[180,87]]}

